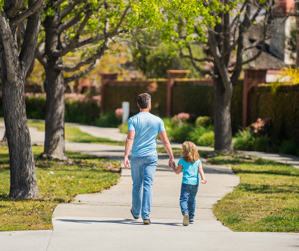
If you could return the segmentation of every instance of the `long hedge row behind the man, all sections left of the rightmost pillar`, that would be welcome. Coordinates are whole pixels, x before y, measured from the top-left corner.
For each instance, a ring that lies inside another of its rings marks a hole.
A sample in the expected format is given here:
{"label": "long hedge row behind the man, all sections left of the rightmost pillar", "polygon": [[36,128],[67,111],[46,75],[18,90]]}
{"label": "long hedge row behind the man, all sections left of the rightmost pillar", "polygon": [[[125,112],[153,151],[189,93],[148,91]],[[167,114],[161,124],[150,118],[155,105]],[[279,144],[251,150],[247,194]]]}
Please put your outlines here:
{"label": "long hedge row behind the man, all sections left of the rightmost pillar", "polygon": [[[242,122],[242,83],[240,80],[233,89],[231,99],[232,129],[236,132]],[[116,124],[114,111],[122,106],[122,101],[129,101],[130,114],[139,112],[137,96],[147,92],[152,96],[152,113],[160,117],[166,116],[167,80],[135,80],[114,81],[106,87],[106,113],[100,117],[100,97],[89,97],[83,94],[67,93],[65,120],[109,126]],[[213,118],[214,94],[213,86],[199,85],[197,80],[182,79],[173,86],[172,113],[193,113],[194,117],[209,116]],[[26,93],[26,113],[28,118],[45,119],[46,94]],[[0,96],[0,116],[3,116],[2,96]]]}

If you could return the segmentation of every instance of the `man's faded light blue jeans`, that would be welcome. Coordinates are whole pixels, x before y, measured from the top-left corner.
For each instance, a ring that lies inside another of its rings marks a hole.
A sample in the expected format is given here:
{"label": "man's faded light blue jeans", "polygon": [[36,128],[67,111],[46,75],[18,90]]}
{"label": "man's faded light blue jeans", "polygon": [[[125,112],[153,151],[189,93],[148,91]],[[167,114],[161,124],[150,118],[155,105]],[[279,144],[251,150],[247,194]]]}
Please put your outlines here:
{"label": "man's faded light blue jeans", "polygon": [[[152,185],[158,163],[158,156],[131,156],[131,175],[133,180],[132,205],[133,214],[142,219],[149,219],[153,197]],[[143,185],[143,195],[141,194]],[[141,204],[142,203],[142,204]]]}

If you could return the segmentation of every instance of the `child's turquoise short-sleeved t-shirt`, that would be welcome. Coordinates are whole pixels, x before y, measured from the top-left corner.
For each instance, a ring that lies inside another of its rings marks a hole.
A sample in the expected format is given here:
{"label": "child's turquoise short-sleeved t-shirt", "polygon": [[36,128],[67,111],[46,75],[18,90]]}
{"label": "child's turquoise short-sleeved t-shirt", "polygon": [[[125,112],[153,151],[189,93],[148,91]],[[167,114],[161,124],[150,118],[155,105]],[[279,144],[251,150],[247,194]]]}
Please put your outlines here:
{"label": "child's turquoise short-sleeved t-shirt", "polygon": [[179,159],[178,165],[183,166],[183,180],[182,183],[189,185],[197,185],[199,184],[198,178],[198,165],[201,163],[200,159],[197,161],[190,163],[184,161],[183,158]]}

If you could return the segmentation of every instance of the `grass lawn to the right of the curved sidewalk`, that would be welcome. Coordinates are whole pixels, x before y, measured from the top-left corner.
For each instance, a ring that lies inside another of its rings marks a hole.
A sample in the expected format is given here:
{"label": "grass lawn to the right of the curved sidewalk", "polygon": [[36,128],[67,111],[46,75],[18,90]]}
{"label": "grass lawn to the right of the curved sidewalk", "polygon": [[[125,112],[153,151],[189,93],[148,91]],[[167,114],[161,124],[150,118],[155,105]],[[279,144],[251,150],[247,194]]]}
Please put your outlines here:
{"label": "grass lawn to the right of the curved sidewalk", "polygon": [[242,154],[209,158],[231,165],[239,185],[214,205],[216,217],[234,231],[299,232],[299,170]]}

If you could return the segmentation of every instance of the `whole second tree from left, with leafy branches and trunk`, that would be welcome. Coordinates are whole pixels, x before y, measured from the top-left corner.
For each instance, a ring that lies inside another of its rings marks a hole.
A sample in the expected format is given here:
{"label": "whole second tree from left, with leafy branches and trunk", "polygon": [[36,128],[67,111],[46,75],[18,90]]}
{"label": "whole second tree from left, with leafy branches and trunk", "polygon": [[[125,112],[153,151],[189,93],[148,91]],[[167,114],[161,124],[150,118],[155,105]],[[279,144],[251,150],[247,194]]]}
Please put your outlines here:
{"label": "whole second tree from left, with leafy branches and trunk", "polygon": [[[44,157],[66,159],[65,84],[96,67],[109,43],[124,32],[122,26],[128,10],[129,2],[121,0],[46,1],[42,38],[36,53],[46,72]],[[72,53],[79,54],[80,60],[68,65],[63,57]],[[69,75],[64,76],[64,72]]]}

